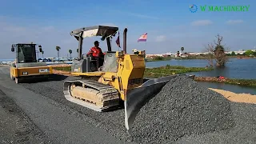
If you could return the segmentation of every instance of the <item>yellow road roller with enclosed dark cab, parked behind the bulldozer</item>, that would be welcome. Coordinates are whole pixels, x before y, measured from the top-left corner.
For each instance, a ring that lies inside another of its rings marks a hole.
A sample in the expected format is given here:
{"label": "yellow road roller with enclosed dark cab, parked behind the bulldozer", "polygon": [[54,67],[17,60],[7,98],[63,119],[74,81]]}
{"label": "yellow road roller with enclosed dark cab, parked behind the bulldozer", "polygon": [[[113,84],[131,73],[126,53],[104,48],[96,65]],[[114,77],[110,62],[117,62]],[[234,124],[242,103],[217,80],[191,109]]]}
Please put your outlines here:
{"label": "yellow road roller with enclosed dark cab, parked behind the bulldozer", "polygon": [[[52,74],[52,67],[45,62],[37,62],[36,44],[18,43],[13,44],[11,51],[16,51],[15,62],[10,66],[10,78],[16,83],[36,82],[49,78]],[[39,51],[42,46],[39,45]]]}

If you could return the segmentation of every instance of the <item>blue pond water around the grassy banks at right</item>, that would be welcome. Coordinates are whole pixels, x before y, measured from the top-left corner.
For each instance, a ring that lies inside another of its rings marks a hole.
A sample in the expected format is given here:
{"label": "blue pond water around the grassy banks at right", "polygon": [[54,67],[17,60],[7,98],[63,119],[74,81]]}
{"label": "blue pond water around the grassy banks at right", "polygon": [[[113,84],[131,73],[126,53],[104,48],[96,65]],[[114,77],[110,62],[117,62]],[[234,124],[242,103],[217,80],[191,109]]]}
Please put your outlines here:
{"label": "blue pond water around the grassy banks at right", "polygon": [[[170,60],[170,61],[159,61],[159,62],[146,62],[147,67],[159,67],[159,66],[186,66],[186,67],[205,67],[208,62],[204,59],[188,59],[188,60]],[[226,63],[225,68],[219,68],[212,71],[202,71],[195,74],[196,76],[204,77],[218,77],[224,76],[226,78],[245,78],[245,79],[256,79],[256,58],[250,59],[237,59],[230,58],[229,62]],[[215,89],[229,90],[234,93],[249,93],[256,94],[256,88],[228,85],[223,83],[212,83],[212,82],[198,82],[202,86],[211,87]]]}

